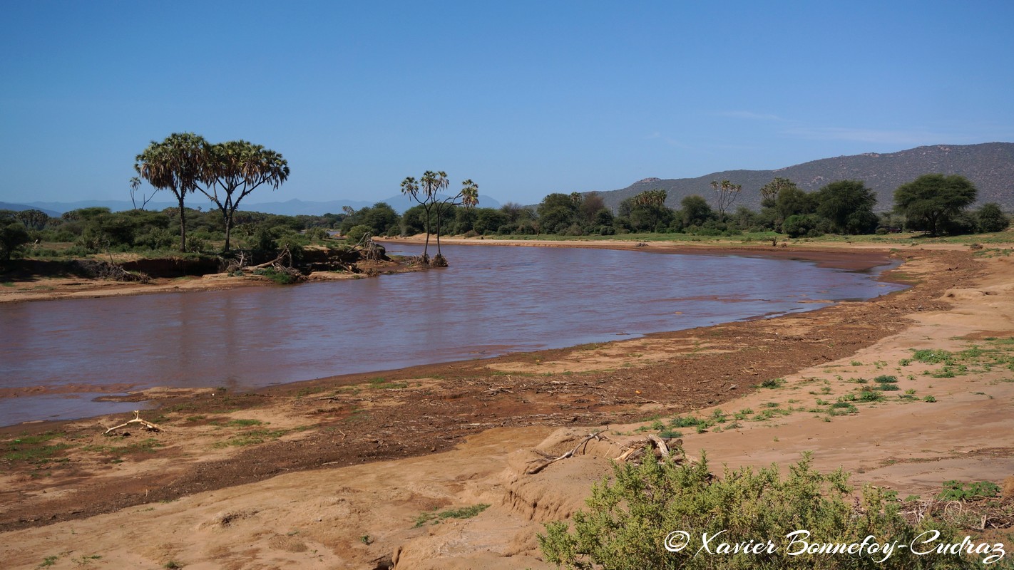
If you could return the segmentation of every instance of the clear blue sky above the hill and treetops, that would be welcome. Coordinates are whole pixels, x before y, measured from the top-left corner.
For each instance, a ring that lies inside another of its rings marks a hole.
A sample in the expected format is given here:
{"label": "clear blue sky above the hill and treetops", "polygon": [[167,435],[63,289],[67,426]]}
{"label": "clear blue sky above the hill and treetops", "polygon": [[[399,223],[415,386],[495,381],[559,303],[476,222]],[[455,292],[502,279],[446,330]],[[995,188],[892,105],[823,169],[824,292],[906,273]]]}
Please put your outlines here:
{"label": "clear blue sky above the hill and treetops", "polygon": [[381,199],[442,169],[532,203],[1014,141],[1009,0],[39,0],[0,13],[0,201],[128,199],[134,156],[174,132],[282,153],[288,182],[250,202]]}

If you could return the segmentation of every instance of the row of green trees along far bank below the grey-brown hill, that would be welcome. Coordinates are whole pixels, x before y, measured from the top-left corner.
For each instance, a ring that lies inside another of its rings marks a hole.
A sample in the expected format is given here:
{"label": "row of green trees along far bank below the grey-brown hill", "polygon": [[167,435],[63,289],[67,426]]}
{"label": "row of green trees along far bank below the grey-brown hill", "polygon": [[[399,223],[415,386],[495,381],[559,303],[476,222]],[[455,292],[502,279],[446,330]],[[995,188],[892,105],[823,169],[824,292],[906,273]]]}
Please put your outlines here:
{"label": "row of green trees along far bank below the grey-brown hill", "polygon": [[[742,186],[729,180],[713,181],[713,199],[690,195],[678,209],[666,206],[664,189],[651,189],[620,202],[615,212],[605,208],[594,192],[552,193],[532,209],[507,205],[501,214],[509,223],[495,231],[488,224],[455,227],[454,233],[557,234],[565,236],[629,233],[683,233],[733,236],[743,232],[773,231],[789,237],[823,234],[858,235],[893,231],[926,231],[931,235],[996,232],[1009,225],[995,203],[977,212],[966,208],[975,189],[961,176],[928,174],[900,186],[893,211],[876,213],[876,193],[860,180],[839,180],[807,192],[792,180],[775,178],[760,188],[760,211],[739,207],[730,212]],[[521,211],[524,211],[523,214]],[[481,209],[469,213],[482,215]],[[485,215],[492,219],[493,214]],[[411,224],[404,224],[410,229]]]}

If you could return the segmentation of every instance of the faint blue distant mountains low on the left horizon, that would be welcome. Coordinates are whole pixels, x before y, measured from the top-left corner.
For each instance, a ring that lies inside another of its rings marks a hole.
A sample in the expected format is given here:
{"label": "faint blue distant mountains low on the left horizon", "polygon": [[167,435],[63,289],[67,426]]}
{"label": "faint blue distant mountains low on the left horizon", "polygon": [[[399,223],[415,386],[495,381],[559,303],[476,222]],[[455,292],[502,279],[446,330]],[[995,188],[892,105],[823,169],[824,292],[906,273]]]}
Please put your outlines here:
{"label": "faint blue distant mountains low on the left horizon", "polygon": [[[165,195],[171,195],[166,193]],[[252,194],[251,194],[252,195]],[[444,196],[446,197],[446,196]],[[203,199],[202,199],[203,198]],[[354,199],[336,199],[330,201],[304,201],[301,199],[290,199],[286,201],[263,201],[263,202],[241,202],[240,210],[244,212],[264,212],[267,214],[281,214],[284,216],[322,216],[324,214],[341,214],[342,207],[348,206],[355,210],[367,208],[379,201],[386,202],[399,214],[416,205],[411,197],[405,194],[395,194],[386,199],[376,201],[362,201]],[[208,201],[202,195],[188,196],[187,206],[189,208],[201,208],[204,211],[212,210],[215,205]],[[479,195],[479,206],[483,208],[500,208],[500,202],[490,196]],[[27,201],[24,203],[10,203],[0,201],[0,210],[42,210],[51,217],[59,217],[64,212],[79,210],[82,208],[108,208],[113,212],[133,210],[134,205],[129,199],[86,199],[80,201]],[[149,201],[145,210],[157,212],[166,208],[175,208],[175,201]]]}

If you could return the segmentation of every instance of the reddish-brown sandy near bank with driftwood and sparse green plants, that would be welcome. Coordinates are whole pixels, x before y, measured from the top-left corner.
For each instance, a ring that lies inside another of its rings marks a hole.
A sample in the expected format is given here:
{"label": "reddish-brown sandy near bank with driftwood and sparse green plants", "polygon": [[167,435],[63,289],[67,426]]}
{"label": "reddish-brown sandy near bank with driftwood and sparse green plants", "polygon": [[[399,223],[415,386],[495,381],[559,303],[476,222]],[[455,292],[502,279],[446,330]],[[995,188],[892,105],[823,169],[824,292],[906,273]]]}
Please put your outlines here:
{"label": "reddish-brown sandy near bank with driftwood and sparse green plants", "polygon": [[[160,432],[102,435],[129,415],[6,428],[5,451],[33,434],[50,447],[0,462],[0,566],[552,568],[542,523],[581,508],[639,428],[677,415],[715,420],[678,428],[714,471],[809,451],[817,469],[901,497],[1002,485],[1014,475],[1009,252],[907,248],[893,277],[913,288],[776,319],[250,395],[153,391],[142,396],[162,408],[142,417]],[[917,358],[930,349],[948,352]],[[899,389],[852,400],[881,376]],[[602,429],[525,474],[537,451]]]}

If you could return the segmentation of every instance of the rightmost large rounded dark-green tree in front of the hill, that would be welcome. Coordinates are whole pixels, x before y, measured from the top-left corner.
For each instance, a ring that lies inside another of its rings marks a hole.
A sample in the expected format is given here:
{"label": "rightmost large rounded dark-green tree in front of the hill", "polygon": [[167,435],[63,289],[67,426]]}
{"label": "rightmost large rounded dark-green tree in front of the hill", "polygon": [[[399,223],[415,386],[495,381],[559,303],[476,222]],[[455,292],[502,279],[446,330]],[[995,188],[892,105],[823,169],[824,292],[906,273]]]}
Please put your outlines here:
{"label": "rightmost large rounded dark-green tree in front of the hill", "polygon": [[976,193],[964,176],[924,174],[894,190],[894,210],[936,236],[947,221],[975,201]]}

